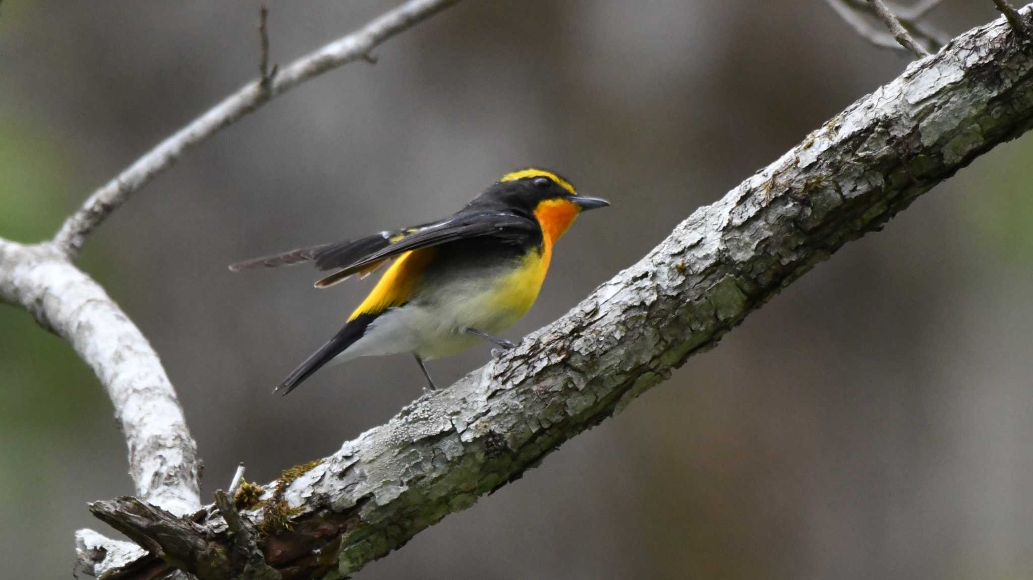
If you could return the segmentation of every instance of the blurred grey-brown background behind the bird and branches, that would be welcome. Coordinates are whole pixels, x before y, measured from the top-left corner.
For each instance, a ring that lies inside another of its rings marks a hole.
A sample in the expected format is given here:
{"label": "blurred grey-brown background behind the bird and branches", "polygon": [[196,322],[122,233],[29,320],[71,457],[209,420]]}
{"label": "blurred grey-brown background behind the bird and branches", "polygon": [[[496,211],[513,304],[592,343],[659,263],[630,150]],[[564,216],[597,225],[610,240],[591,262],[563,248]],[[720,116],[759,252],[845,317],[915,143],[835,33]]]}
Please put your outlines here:
{"label": "blurred grey-brown background behind the bird and branches", "polygon": [[[271,2],[285,63],[394,2]],[[253,78],[256,2],[7,0],[0,235],[50,236],[93,190]],[[992,3],[946,0],[960,33]],[[258,254],[447,215],[540,164],[614,207],[562,240],[554,320],[907,58],[821,1],[464,2],[187,155],[90,239],[83,266],[161,354],[205,459],[269,481],[419,394],[406,357],[270,389],[369,288]],[[624,414],[359,578],[1033,576],[1033,136],[850,244]],[[488,348],[434,361],[448,383]],[[111,404],[0,308],[0,556],[66,578],[86,503],[132,492]]]}

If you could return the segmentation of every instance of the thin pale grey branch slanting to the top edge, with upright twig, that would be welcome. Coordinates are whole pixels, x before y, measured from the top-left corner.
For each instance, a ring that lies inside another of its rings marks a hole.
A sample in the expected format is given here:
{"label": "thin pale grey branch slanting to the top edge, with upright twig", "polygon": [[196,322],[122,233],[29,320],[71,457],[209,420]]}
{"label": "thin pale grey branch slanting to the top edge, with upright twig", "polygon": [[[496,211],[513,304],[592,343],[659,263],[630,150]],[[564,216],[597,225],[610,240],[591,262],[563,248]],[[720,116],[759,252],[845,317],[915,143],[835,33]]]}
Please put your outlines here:
{"label": "thin pale grey branch slanting to the top edge, with upright twig", "polygon": [[[371,59],[370,52],[384,40],[457,2],[459,0],[409,0],[359,30],[279,69],[276,74],[249,83],[93,192],[83,207],[61,226],[54,243],[68,256],[74,256],[94,228],[158,173],[171,167],[186,150],[306,80],[354,60]],[[262,18],[263,37],[264,28]],[[265,44],[268,40],[262,46],[262,58],[268,63]]]}

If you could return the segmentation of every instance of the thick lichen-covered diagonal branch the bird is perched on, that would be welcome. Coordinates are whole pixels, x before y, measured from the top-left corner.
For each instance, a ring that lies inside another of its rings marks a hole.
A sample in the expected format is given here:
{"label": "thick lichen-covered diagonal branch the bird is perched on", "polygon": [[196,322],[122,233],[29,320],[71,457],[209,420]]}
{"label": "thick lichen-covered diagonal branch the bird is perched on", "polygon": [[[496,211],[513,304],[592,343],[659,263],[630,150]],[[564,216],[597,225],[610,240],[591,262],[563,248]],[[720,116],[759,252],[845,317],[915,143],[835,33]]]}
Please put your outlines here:
{"label": "thick lichen-covered diagonal branch the bird is perched on", "polygon": [[[241,514],[265,534],[267,562],[285,580],[340,578],[520,478],[843,244],[1027,131],[1030,55],[1003,19],[956,38],[697,210],[518,348],[334,455],[249,491]],[[179,527],[132,497],[91,509],[202,579],[242,572],[227,556],[198,558],[229,553],[214,509]]]}

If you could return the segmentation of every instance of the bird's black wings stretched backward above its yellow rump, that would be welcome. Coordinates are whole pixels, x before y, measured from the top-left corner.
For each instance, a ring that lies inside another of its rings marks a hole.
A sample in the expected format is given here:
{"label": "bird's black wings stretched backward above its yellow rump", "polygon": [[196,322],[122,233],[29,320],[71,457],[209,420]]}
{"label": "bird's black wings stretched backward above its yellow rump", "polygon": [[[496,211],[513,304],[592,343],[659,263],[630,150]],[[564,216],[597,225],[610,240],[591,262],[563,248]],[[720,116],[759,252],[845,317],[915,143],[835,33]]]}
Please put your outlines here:
{"label": "bird's black wings stretched backward above its yellow rump", "polygon": [[238,262],[230,265],[229,269],[240,271],[251,267],[277,267],[307,261],[314,261],[319,269],[341,268],[316,282],[317,288],[326,288],[355,273],[365,278],[386,260],[412,250],[484,236],[522,244],[540,235],[541,230],[533,218],[506,210],[467,208],[439,222],[397,231],[383,231],[347,241],[300,248],[282,254]]}

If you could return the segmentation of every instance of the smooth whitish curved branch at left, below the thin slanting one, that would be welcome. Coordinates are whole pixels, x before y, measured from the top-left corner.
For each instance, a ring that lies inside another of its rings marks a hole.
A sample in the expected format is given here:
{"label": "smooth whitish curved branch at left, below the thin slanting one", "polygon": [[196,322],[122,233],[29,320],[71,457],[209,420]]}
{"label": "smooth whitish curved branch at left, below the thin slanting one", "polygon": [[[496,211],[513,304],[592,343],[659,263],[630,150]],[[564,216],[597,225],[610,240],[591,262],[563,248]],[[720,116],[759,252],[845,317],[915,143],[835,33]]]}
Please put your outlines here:
{"label": "smooth whitish curved branch at left, below the thin slanting one", "polygon": [[3,239],[0,299],[29,310],[96,373],[125,434],[136,493],[176,515],[196,511],[197,447],[158,355],[118,304],[53,246]]}

